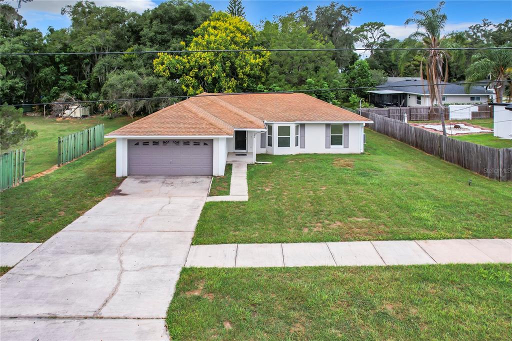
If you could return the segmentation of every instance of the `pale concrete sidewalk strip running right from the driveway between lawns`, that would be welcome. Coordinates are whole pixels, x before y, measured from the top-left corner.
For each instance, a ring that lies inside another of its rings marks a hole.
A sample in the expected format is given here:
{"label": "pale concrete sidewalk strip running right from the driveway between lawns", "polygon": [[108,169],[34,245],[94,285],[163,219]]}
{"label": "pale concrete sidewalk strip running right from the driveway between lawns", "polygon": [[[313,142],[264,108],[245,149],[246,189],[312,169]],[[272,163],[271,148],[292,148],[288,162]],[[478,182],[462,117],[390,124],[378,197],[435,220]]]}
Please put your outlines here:
{"label": "pale concrete sidewalk strip running right from the driveway between lawns", "polygon": [[187,267],[512,263],[512,239],[193,245]]}

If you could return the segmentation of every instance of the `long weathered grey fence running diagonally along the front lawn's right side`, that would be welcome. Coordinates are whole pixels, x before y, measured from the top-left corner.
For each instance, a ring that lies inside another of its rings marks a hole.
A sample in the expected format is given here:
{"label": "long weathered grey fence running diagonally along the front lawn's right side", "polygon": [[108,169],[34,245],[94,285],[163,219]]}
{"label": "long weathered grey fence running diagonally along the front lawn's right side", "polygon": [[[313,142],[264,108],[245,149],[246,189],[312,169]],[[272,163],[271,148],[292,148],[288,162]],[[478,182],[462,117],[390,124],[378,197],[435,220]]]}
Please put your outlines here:
{"label": "long weathered grey fence running diagonally along the front lawn's right side", "polygon": [[498,149],[455,140],[365,110],[360,114],[373,121],[368,126],[376,132],[488,178],[512,181],[512,148]]}

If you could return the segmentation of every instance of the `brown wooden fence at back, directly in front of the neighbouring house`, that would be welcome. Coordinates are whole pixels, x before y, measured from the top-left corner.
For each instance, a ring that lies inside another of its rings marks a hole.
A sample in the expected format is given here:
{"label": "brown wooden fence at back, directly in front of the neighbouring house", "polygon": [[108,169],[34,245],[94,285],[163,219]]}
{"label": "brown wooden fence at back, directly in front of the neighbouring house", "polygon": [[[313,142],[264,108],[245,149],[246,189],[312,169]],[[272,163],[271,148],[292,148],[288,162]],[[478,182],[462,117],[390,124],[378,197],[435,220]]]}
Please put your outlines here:
{"label": "brown wooden fence at back, directly in front of the neighbouring house", "polygon": [[[434,108],[433,113],[430,113],[430,106],[404,106],[403,108],[390,106],[389,108],[365,108],[362,110],[399,121],[402,121],[403,116],[406,114],[409,121],[438,121],[441,119],[439,109],[440,108]],[[450,119],[450,108],[443,106],[442,109],[444,112],[444,119]],[[490,118],[493,117],[492,113],[492,106],[486,104],[478,105],[478,111],[473,111],[471,113],[471,118]]]}

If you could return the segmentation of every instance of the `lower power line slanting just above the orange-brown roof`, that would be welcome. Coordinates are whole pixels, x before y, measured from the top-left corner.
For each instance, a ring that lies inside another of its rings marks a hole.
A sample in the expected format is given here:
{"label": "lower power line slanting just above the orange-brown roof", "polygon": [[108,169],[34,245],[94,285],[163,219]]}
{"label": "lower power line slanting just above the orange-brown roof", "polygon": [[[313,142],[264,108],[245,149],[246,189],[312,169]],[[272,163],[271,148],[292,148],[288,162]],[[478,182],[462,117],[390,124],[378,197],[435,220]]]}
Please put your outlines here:
{"label": "lower power line slanting just above the orange-brown roof", "polygon": [[[495,82],[506,82],[507,80],[496,80]],[[481,81],[476,82],[453,82],[453,83],[432,83],[422,84],[423,86],[438,86],[446,84],[482,84]],[[407,88],[407,87],[419,87],[418,84],[404,85],[404,86],[386,86],[386,88]],[[293,93],[304,93],[304,92],[316,92],[316,91],[342,91],[342,90],[364,90],[364,89],[376,89],[376,87],[352,87],[352,88],[327,88],[327,89],[305,89],[305,90],[283,90],[283,91],[268,91],[268,92],[232,92],[232,93],[221,93],[221,94],[206,94],[201,95],[204,97],[209,96],[233,96],[233,95],[258,95],[258,94],[293,94]],[[162,97],[138,97],[138,98],[119,98],[119,99],[98,99],[98,100],[83,100],[83,101],[72,101],[72,102],[48,102],[48,103],[19,103],[19,104],[2,104],[0,106],[12,106],[12,105],[49,105],[49,104],[78,104],[78,103],[99,103],[99,102],[123,102],[123,101],[137,101],[137,100],[149,100],[149,99],[182,99],[192,96],[162,96]]]}

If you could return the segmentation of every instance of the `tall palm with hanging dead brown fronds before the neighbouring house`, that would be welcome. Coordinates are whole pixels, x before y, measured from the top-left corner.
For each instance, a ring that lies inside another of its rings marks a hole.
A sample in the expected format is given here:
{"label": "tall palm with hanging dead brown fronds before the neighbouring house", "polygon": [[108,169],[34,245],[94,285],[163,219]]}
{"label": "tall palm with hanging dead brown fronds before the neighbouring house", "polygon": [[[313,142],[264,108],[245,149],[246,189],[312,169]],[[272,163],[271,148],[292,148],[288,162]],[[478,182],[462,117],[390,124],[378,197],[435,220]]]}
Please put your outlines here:
{"label": "tall palm with hanging dead brown fronds before the neighbouring house", "polygon": [[[412,40],[420,39],[423,47],[429,49],[425,50],[423,60],[425,61],[425,75],[431,99],[431,111],[434,109],[432,104],[435,100],[439,106],[443,135],[446,136],[442,103],[444,87],[441,86],[441,83],[448,79],[447,59],[449,55],[441,49],[451,47],[451,44],[445,39],[445,36],[441,36],[447,20],[446,14],[441,12],[443,6],[444,1],[441,1],[436,8],[415,11],[414,17],[407,19],[405,24],[415,24],[417,26],[416,32],[411,34],[409,38]],[[420,76],[423,77],[423,61],[420,65]]]}

